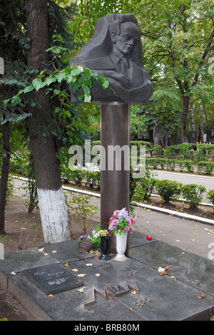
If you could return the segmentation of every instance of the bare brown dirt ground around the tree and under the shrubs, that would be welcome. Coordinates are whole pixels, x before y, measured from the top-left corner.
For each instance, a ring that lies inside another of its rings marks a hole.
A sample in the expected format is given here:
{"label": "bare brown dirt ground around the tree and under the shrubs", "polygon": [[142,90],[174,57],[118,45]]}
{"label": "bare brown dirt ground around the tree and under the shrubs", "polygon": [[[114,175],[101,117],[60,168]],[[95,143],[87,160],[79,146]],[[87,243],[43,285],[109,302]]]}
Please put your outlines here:
{"label": "bare brown dirt ground around the tree and under the shrubs", "polygon": [[[170,202],[169,204],[164,204],[159,197],[153,197],[147,203],[149,205],[178,210],[191,215],[207,217],[212,220],[214,217],[214,209],[212,207],[200,206],[197,210],[193,211],[189,210],[188,205],[185,203]],[[98,223],[91,223],[91,230],[93,230]],[[73,238],[78,238],[83,234],[81,227],[78,225],[70,225],[70,227],[71,236]],[[21,196],[13,196],[7,200],[5,230],[6,235],[0,234],[0,242],[4,242],[5,252],[15,252],[18,249],[40,247],[44,244],[39,210],[28,213],[24,205],[24,198]],[[16,297],[0,286],[0,320],[3,318],[9,321],[35,320],[34,316],[29,314],[29,311],[21,305]]]}

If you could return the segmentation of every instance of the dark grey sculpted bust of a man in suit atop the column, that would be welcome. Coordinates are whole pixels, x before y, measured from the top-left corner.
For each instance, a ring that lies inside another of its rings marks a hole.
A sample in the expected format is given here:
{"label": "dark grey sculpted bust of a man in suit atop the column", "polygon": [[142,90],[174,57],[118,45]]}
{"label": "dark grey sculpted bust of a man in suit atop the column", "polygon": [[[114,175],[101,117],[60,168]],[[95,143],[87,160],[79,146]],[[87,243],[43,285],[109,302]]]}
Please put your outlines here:
{"label": "dark grey sculpted bust of a man in suit atop the column", "polygon": [[[71,66],[78,64],[106,76],[114,90],[103,90],[93,81],[92,102],[146,103],[151,97],[153,86],[143,66],[141,33],[133,14],[98,19],[91,40],[71,58]],[[72,92],[71,100],[77,100]]]}

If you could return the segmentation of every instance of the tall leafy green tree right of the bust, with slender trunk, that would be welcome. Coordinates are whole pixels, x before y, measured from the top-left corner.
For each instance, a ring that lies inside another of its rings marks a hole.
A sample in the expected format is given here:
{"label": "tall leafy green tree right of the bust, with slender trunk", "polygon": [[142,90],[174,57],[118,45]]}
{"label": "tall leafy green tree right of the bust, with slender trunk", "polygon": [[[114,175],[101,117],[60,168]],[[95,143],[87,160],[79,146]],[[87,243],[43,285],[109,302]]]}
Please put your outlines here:
{"label": "tall leafy green tree right of the bust, with slender trunk", "polygon": [[171,87],[174,89],[177,86],[183,106],[180,113],[181,135],[183,143],[186,143],[188,114],[195,88],[203,87],[204,96],[208,93],[208,87],[202,86],[200,76],[203,76],[205,84],[208,60],[213,54],[213,1],[128,2],[133,9],[138,8],[136,16],[143,36],[143,55],[150,60],[152,76],[161,73],[158,81],[168,82],[168,86],[163,86],[168,93]]}

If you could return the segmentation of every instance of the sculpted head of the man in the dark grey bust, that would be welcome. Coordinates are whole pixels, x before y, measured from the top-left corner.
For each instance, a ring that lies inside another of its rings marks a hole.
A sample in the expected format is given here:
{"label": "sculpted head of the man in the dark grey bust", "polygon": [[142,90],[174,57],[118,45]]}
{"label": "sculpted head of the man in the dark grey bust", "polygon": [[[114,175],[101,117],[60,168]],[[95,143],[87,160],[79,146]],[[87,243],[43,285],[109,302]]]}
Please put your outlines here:
{"label": "sculpted head of the man in the dark grey bust", "polygon": [[121,24],[121,33],[113,36],[113,42],[118,51],[128,56],[138,41],[140,41],[140,38],[141,33],[138,26],[133,22],[124,22]]}

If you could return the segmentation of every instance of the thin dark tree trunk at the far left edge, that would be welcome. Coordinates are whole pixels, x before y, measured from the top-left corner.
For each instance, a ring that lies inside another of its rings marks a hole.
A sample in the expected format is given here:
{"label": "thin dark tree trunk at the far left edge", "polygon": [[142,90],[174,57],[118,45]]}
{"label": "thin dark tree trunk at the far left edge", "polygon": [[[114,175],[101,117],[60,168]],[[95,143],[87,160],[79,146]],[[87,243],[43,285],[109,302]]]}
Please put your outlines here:
{"label": "thin dark tree trunk at the far left edge", "polygon": [[4,232],[4,212],[6,205],[6,185],[9,175],[10,162],[10,140],[9,140],[9,122],[2,125],[2,140],[3,140],[3,164],[1,168],[0,179],[0,232]]}

